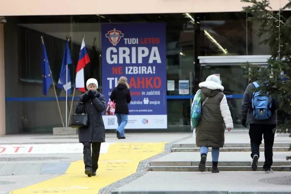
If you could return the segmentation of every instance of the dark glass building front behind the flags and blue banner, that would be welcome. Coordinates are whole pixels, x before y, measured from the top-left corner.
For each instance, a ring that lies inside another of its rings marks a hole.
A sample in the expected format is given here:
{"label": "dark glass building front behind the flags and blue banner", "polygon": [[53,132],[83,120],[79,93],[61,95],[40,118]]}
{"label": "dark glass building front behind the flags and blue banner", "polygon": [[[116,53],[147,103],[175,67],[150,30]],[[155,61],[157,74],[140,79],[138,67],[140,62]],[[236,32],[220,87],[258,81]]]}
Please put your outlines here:
{"label": "dark glass building front behind the flags and blue banner", "polygon": [[[175,81],[175,90],[167,91],[168,129],[190,130],[190,108],[200,81],[220,74],[225,93],[242,95],[248,81],[239,64],[201,65],[199,56],[268,55],[269,47],[258,45],[259,24],[247,21],[245,13],[184,13],[86,16],[7,16],[5,32],[6,133],[51,132],[61,127],[52,87],[42,95],[41,39],[43,36],[53,80],[58,82],[65,39],[70,40],[75,81],[81,41],[85,35],[91,62],[85,67],[85,80],[101,82],[100,24],[120,22],[165,22],[167,80]],[[178,81],[189,80],[190,94],[179,95]],[[65,91],[56,87],[65,97]],[[81,93],[76,90],[75,97]],[[68,107],[71,108],[71,95]],[[240,125],[240,98],[228,99],[236,128]],[[73,109],[76,105],[74,101]],[[65,100],[60,100],[65,117]],[[68,111],[69,112],[69,111]],[[165,129],[166,130],[166,129]]]}

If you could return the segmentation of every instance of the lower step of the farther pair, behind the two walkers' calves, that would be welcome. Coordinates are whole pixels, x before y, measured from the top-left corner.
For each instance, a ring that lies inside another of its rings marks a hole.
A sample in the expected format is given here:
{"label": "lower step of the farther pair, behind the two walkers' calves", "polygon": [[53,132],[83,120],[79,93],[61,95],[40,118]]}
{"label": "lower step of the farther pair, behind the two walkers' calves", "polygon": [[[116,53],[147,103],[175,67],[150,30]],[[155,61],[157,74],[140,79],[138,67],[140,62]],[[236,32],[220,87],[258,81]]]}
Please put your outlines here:
{"label": "lower step of the farther pair, behind the two walkers' calves", "polygon": [[[259,148],[260,151],[264,151],[264,147]],[[211,151],[211,148],[209,149]],[[199,152],[199,147],[173,147],[171,149],[172,152]],[[221,152],[250,152],[250,147],[223,147],[220,149]],[[275,152],[288,152],[289,147],[273,147],[273,151]]]}

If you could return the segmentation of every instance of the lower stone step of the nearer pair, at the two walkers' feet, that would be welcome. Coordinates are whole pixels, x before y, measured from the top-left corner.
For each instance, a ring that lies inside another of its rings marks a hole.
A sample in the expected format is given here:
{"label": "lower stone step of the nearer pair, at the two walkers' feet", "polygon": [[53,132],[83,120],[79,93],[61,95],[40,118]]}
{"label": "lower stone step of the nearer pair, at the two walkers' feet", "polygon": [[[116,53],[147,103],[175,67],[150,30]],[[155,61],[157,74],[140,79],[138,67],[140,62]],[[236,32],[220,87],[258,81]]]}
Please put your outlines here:
{"label": "lower stone step of the nearer pair, at the two walkers' feet", "polygon": [[[248,166],[218,166],[219,171],[252,171],[250,165]],[[289,166],[272,166],[274,171],[291,171]],[[198,172],[198,166],[150,166],[150,171],[172,171],[172,172]],[[212,166],[206,166],[205,171],[211,171]],[[263,166],[259,166],[257,171],[263,171]]]}

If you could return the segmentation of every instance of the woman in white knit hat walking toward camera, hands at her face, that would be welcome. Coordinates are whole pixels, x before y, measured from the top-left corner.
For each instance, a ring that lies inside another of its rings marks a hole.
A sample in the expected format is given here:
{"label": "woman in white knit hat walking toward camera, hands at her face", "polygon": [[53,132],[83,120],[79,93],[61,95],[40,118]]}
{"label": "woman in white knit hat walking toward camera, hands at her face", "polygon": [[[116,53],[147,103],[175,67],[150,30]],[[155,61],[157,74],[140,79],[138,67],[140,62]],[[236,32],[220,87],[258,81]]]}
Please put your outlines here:
{"label": "woman in white knit hat walking toward camera, hands at her face", "polygon": [[89,79],[86,87],[87,91],[79,96],[76,113],[88,114],[89,125],[79,128],[79,142],[83,144],[85,174],[91,177],[96,176],[101,143],[105,142],[105,127],[102,119],[105,97],[97,92],[96,79]]}

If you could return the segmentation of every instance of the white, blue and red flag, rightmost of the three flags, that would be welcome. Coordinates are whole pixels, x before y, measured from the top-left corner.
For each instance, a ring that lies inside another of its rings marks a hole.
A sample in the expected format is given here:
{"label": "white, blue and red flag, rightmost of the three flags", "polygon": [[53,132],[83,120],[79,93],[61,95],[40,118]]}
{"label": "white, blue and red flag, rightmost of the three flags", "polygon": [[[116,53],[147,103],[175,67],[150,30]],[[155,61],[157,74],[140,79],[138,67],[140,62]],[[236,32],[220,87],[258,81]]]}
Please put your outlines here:
{"label": "white, blue and red flag, rightmost of the three flags", "polygon": [[79,61],[76,70],[76,88],[82,92],[85,92],[85,81],[84,81],[84,67],[90,62],[84,38],[82,40]]}

